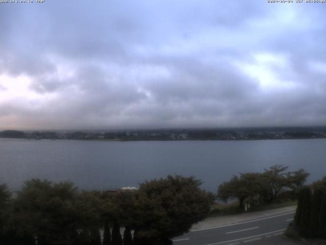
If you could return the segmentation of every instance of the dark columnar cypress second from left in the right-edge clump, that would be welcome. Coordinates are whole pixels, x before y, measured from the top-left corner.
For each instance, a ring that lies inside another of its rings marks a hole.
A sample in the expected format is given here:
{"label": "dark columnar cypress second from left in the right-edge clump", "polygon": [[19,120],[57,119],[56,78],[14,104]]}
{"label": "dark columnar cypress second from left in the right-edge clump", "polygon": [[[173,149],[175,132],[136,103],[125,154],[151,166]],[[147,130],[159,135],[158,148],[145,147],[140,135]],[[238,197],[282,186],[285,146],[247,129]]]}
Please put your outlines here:
{"label": "dark columnar cypress second from left in the right-edge clump", "polygon": [[317,237],[319,229],[319,212],[321,208],[322,192],[320,190],[315,190],[312,194],[312,205],[310,213],[309,222],[309,236]]}

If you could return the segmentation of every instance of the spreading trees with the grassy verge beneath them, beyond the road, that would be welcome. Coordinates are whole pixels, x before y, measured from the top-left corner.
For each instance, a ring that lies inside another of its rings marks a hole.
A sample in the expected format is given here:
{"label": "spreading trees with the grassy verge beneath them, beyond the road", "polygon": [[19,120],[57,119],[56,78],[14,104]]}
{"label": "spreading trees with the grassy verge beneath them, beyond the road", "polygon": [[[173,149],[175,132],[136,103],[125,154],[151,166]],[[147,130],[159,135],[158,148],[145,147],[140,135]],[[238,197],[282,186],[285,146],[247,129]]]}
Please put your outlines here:
{"label": "spreading trees with the grassy verge beneath them, beyond the road", "polygon": [[304,169],[288,171],[288,166],[283,165],[271,166],[263,173],[240,173],[218,187],[220,203],[214,206],[210,215],[296,205],[298,193],[308,176]]}

